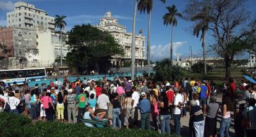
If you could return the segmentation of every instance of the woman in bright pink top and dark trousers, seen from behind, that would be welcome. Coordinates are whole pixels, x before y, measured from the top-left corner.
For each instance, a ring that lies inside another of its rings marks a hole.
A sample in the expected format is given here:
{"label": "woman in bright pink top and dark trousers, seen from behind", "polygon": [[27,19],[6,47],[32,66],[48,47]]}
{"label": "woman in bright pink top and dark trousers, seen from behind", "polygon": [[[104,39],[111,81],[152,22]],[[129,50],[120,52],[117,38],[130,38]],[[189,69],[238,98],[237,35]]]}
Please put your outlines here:
{"label": "woman in bright pink top and dark trousers, seen from behind", "polygon": [[53,121],[53,110],[54,105],[51,99],[51,93],[46,93],[46,96],[40,100],[41,104],[43,104],[43,109],[45,109],[46,119],[47,121]]}

